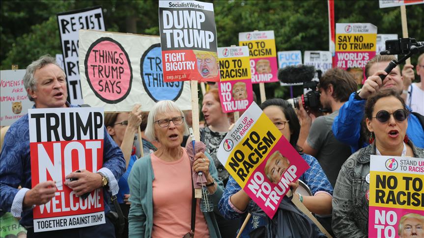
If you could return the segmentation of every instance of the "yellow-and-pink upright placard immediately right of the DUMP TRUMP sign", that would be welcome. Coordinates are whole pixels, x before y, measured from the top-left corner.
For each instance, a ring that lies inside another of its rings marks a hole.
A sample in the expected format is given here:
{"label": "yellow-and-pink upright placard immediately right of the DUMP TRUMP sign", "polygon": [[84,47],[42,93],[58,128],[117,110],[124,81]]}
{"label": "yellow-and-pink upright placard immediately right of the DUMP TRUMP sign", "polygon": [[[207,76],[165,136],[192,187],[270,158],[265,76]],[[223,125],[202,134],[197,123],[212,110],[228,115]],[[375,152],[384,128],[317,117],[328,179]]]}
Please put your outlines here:
{"label": "yellow-and-pink upright placard immediately right of the DUMP TRUMP sign", "polygon": [[221,82],[219,97],[224,112],[246,110],[253,102],[247,46],[218,48]]}

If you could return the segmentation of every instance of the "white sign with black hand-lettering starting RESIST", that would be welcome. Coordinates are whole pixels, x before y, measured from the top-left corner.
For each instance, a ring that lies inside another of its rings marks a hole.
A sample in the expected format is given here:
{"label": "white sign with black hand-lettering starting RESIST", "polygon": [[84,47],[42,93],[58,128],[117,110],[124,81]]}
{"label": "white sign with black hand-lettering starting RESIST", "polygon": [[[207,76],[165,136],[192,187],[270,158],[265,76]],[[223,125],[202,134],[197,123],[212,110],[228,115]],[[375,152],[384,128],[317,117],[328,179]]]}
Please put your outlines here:
{"label": "white sign with black hand-lettering starting RESIST", "polygon": [[78,67],[78,31],[79,29],[106,30],[102,8],[93,7],[59,13],[57,24],[70,103],[83,104]]}

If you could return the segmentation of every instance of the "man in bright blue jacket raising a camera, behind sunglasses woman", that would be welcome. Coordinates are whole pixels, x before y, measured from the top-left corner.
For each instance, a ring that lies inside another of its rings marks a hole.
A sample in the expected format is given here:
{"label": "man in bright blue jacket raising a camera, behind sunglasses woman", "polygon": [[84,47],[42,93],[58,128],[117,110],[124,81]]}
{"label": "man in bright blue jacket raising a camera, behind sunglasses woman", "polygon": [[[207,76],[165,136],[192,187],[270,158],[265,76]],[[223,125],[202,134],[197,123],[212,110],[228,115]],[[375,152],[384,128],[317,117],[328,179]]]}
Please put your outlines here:
{"label": "man in bright blue jacket raising a camera, behind sunglasses woman", "polygon": [[[361,121],[364,118],[364,107],[367,98],[383,88],[394,88],[399,94],[403,90],[403,77],[400,75],[400,68],[396,66],[389,74],[384,69],[391,60],[396,59],[394,55],[376,55],[368,61],[365,66],[365,76],[362,89],[352,93],[349,100],[340,107],[339,116],[334,119],[333,133],[336,138],[350,145],[352,153],[367,146],[364,136],[361,136]],[[380,79],[380,75],[386,78]],[[411,108],[407,106],[411,112]],[[406,134],[417,147],[424,147],[424,130],[419,117],[422,115],[411,113],[408,116],[408,128]]]}

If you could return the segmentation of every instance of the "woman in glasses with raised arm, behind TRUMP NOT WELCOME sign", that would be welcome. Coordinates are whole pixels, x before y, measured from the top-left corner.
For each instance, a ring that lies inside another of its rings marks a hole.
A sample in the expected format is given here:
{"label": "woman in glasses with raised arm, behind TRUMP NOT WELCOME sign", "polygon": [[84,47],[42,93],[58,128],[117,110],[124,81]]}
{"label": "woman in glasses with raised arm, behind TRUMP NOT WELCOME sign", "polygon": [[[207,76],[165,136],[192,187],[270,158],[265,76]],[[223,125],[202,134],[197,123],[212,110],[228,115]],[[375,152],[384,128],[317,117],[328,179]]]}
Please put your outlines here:
{"label": "woman in glasses with raised arm, behind TRUMP NOT WELCOME sign", "polygon": [[[138,159],[135,154],[134,136],[141,124],[140,105],[134,106],[131,112],[105,113],[105,127],[115,143],[121,148],[125,159],[125,173],[119,178],[119,191],[116,194],[117,201],[125,217],[130,211],[130,187],[128,176],[134,162]],[[128,236],[128,224],[125,224],[124,237]]]}

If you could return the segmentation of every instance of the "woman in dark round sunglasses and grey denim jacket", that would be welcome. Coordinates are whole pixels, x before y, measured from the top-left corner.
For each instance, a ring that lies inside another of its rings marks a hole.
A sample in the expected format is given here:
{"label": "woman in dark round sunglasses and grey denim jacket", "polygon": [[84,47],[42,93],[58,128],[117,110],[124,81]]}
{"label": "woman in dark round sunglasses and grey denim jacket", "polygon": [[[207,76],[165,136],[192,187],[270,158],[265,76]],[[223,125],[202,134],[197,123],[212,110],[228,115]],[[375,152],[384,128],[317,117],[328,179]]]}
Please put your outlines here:
{"label": "woman in dark round sunglasses and grey denim jacket", "polygon": [[365,105],[370,145],[351,155],[341,167],[333,194],[333,231],[336,237],[367,237],[369,160],[371,155],[424,158],[406,135],[408,111],[400,95],[384,89]]}

